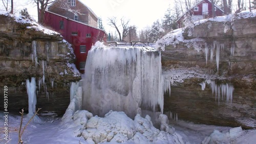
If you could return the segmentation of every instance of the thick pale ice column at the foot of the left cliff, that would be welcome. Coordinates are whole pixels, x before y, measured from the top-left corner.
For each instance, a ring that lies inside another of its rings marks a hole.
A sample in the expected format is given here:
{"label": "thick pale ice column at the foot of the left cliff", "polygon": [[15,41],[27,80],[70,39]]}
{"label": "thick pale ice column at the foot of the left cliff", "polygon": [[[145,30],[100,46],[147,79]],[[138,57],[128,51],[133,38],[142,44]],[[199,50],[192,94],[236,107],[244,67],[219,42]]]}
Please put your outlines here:
{"label": "thick pale ice column at the foot of the left cliff", "polygon": [[31,78],[31,82],[29,79],[26,81],[27,93],[29,97],[29,115],[33,115],[35,113],[35,105],[36,105],[36,83],[35,78]]}

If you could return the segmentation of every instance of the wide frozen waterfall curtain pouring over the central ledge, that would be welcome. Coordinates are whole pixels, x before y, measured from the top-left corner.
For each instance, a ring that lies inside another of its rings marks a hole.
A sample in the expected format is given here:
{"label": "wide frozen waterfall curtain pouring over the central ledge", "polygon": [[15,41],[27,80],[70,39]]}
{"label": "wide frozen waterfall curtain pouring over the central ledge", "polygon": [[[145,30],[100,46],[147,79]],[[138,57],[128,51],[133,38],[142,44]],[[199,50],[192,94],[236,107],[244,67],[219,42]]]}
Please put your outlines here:
{"label": "wide frozen waterfall curtain pouring over the central ledge", "polygon": [[152,47],[93,47],[86,62],[82,109],[134,117],[139,107],[163,111],[161,53]]}

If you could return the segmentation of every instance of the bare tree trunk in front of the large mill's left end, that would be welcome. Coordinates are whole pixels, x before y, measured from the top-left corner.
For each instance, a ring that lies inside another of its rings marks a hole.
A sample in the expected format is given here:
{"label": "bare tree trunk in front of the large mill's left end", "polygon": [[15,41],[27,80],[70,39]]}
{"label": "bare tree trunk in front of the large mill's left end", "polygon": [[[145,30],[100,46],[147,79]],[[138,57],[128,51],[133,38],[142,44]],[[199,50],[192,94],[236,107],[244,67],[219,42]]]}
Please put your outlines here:
{"label": "bare tree trunk in front of the large mill's left end", "polygon": [[[54,2],[54,0],[34,0],[37,5],[38,22],[43,24],[45,21],[45,10],[48,5]],[[39,6],[40,5],[40,6]],[[40,8],[40,10],[39,10]]]}

